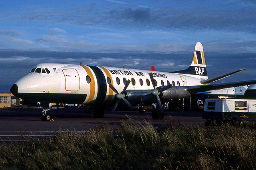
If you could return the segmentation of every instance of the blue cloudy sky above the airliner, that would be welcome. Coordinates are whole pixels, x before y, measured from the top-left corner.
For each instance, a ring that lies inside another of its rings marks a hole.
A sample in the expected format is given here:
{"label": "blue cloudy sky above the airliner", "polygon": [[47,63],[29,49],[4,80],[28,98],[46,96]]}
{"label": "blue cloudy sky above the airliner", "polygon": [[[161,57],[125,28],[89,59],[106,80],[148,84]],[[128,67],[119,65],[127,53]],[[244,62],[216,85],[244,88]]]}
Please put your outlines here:
{"label": "blue cloudy sky above the airliner", "polygon": [[208,78],[256,80],[254,0],[2,0],[0,92],[38,63],[172,72],[203,45]]}

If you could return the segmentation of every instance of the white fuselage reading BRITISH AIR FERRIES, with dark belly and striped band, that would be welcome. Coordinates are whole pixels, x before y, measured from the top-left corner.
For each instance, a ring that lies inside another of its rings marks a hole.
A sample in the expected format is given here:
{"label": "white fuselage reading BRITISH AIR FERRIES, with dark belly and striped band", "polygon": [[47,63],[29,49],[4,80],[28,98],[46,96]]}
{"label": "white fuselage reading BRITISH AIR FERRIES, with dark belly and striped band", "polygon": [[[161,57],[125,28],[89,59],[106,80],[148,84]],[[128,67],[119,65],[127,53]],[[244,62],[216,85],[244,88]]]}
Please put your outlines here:
{"label": "white fuselage reading BRITISH AIR FERRIES, with dark belly and striped band", "polygon": [[[173,86],[200,85],[200,79],[192,76],[151,70],[53,63],[38,64],[34,68],[41,72],[32,71],[15,83],[17,97],[69,104],[107,103],[113,101],[116,94],[109,83],[118,92],[123,90],[127,80],[131,80],[127,90],[152,90],[151,72],[156,87],[169,83]],[[43,71],[46,68],[50,73]]]}

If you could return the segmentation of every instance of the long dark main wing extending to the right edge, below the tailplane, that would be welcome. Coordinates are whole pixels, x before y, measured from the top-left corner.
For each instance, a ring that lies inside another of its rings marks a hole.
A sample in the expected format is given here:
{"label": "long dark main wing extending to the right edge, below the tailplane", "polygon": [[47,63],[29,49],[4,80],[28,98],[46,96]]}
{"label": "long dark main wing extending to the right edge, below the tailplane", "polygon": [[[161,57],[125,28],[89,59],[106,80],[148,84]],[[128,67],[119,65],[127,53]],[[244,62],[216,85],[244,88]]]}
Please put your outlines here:
{"label": "long dark main wing extending to the right edge, below the tailplane", "polygon": [[201,93],[209,90],[218,90],[222,88],[230,88],[230,87],[236,87],[236,86],[246,86],[250,84],[256,84],[256,80],[188,86],[187,91],[190,93]]}

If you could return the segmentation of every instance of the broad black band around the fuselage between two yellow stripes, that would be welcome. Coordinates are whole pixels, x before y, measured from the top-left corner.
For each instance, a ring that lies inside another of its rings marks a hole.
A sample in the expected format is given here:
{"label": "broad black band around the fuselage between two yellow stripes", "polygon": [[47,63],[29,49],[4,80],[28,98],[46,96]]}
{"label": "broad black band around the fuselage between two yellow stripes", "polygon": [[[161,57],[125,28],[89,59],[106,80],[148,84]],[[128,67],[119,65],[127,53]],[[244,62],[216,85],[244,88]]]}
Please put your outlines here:
{"label": "broad black band around the fuselage between two yellow stripes", "polygon": [[102,104],[107,95],[107,82],[105,80],[105,76],[101,71],[101,69],[99,69],[99,67],[97,66],[89,66],[89,67],[95,73],[97,78],[97,84],[98,84],[98,92],[97,92],[97,97],[94,104]]}

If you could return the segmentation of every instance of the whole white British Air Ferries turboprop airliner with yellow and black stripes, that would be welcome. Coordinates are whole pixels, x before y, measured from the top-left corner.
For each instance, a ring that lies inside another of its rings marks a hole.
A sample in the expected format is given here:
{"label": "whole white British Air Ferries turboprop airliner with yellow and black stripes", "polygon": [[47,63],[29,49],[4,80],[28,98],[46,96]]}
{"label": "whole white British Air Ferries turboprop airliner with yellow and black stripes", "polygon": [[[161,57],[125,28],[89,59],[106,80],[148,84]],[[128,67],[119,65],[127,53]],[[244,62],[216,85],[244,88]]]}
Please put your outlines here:
{"label": "whole white British Air Ferries turboprop airliner with yellow and black stripes", "polygon": [[163,102],[189,98],[208,90],[256,84],[256,80],[210,84],[242,70],[208,79],[203,47],[198,42],[192,63],[186,70],[160,72],[153,69],[90,66],[82,62],[42,63],[15,82],[10,91],[14,96],[28,101],[28,104],[45,107],[42,121],[50,120],[50,115],[46,113],[48,102],[90,105],[94,108],[94,117],[103,117],[104,106],[113,106],[112,111],[115,111],[121,100],[130,108],[134,104],[157,104],[152,117],[163,119]]}

